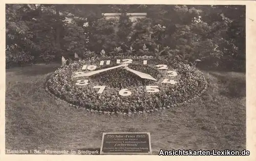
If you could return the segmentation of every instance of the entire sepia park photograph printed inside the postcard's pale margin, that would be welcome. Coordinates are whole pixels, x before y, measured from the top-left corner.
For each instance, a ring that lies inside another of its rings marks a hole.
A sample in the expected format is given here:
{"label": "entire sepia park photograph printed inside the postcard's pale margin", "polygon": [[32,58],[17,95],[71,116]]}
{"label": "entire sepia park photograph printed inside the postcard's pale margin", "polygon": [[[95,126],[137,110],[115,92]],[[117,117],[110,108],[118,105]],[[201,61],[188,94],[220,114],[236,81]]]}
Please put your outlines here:
{"label": "entire sepia park photograph printed inside the postcard's pale margin", "polygon": [[252,155],[247,7],[6,3],[5,155]]}

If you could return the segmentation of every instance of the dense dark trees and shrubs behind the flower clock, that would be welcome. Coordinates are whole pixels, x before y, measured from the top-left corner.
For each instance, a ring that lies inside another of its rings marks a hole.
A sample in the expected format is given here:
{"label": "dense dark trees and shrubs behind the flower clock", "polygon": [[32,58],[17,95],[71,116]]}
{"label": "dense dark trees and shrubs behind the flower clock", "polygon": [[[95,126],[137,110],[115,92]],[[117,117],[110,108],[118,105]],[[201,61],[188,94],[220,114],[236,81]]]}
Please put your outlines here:
{"label": "dense dark trees and shrubs behind the flower clock", "polygon": [[[106,20],[101,15],[106,12],[121,16]],[[147,17],[134,24],[127,12]],[[6,42],[7,66],[104,50],[109,56],[130,51],[126,54],[244,68],[245,6],[8,4]]]}

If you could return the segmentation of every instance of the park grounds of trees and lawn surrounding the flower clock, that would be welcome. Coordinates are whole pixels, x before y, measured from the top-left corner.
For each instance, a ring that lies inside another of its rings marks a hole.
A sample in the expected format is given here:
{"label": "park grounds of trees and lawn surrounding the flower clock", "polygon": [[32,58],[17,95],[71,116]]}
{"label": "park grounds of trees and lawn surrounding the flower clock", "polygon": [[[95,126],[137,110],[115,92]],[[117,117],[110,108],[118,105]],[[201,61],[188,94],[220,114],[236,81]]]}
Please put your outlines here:
{"label": "park grounds of trees and lawn surrounding the flower clock", "polygon": [[[126,12],[147,18],[132,27]],[[102,13],[123,14],[116,21]],[[136,52],[128,52],[131,46]],[[62,56],[159,56],[157,50],[188,64],[201,60],[197,66],[210,86],[189,108],[109,118],[77,111],[44,91]],[[99,147],[108,131],[150,131],[154,151],[246,145],[245,6],[6,5],[6,67],[9,149]]]}

